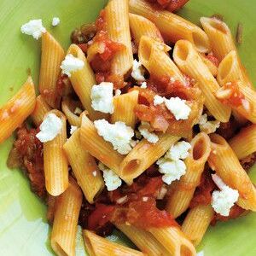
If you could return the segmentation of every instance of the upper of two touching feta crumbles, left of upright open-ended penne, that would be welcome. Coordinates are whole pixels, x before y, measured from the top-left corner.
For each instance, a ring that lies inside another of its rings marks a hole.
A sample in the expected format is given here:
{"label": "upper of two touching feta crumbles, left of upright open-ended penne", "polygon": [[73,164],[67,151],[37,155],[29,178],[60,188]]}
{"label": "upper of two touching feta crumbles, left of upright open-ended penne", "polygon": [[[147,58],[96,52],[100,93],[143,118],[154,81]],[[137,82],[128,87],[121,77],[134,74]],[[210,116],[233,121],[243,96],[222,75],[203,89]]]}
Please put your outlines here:
{"label": "upper of two touching feta crumbles, left of upright open-ended penne", "polygon": [[176,145],[172,145],[172,148],[170,148],[165,158],[169,158],[170,160],[184,160],[189,155],[189,149],[191,148],[191,145],[185,141],[179,142]]}

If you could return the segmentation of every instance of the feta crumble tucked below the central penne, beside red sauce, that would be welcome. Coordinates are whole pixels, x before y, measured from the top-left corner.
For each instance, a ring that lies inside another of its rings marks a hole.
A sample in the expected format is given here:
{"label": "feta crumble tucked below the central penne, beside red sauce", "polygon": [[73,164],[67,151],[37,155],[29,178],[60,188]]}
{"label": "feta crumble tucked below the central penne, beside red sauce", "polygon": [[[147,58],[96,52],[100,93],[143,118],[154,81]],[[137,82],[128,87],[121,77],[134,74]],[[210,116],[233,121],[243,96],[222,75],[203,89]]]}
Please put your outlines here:
{"label": "feta crumble tucked below the central penne, beside red sauce", "polygon": [[99,169],[103,172],[103,179],[108,191],[113,191],[122,184],[122,180],[112,170],[108,169],[102,163],[99,163]]}

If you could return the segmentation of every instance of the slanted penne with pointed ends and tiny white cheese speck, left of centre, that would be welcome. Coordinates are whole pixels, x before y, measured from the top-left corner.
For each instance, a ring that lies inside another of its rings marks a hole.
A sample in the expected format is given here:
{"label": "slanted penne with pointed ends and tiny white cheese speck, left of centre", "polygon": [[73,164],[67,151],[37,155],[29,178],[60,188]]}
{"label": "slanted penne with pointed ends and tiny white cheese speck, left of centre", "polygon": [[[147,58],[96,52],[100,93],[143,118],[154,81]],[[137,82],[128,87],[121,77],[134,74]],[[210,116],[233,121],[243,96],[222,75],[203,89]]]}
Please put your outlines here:
{"label": "slanted penne with pointed ends and tiny white cheese speck, left of centre", "polygon": [[95,196],[104,188],[105,183],[95,159],[82,148],[80,129],[73,133],[63,148],[77,183],[83,190],[86,200],[92,204]]}

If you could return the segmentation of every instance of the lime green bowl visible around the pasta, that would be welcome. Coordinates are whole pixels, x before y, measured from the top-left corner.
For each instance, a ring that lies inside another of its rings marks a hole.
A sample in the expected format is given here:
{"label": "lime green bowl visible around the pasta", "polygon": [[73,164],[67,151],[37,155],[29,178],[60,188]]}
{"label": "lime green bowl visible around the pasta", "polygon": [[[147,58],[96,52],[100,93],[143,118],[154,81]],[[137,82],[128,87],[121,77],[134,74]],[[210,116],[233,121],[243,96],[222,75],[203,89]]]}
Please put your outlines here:
{"label": "lime green bowl visible around the pasta", "polygon": [[[28,20],[43,19],[44,26],[67,49],[69,35],[74,27],[96,19],[103,0],[1,0],[0,1],[0,106],[6,102],[26,80],[27,68],[38,84],[40,42],[22,35],[20,26]],[[180,15],[198,23],[202,15],[224,15],[233,34],[241,22],[244,27],[243,44],[239,47],[241,59],[250,77],[256,82],[256,2],[255,0],[190,0]],[[61,18],[60,26],[53,28],[54,16]],[[0,127],[1,129],[1,127]],[[53,255],[49,246],[50,228],[46,207],[29,189],[26,177],[18,170],[6,166],[13,137],[0,145],[0,255]],[[256,171],[250,173],[254,182]],[[198,251],[206,256],[256,255],[256,217],[218,223],[207,230]],[[118,232],[111,239],[129,244]],[[80,234],[77,255],[87,255]]]}

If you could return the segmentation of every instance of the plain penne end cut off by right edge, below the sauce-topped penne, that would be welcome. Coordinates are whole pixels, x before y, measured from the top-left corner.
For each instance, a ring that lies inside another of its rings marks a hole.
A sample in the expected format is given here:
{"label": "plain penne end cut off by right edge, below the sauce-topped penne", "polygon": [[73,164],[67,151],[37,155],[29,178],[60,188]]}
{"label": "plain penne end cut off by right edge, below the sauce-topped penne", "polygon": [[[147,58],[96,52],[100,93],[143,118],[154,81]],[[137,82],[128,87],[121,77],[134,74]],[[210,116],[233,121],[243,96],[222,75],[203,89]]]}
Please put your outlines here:
{"label": "plain penne end cut off by right edge, below the sauce-topped penne", "polygon": [[256,151],[256,125],[242,128],[235,137],[230,139],[229,144],[239,160],[253,154]]}

